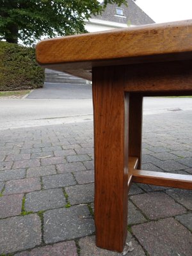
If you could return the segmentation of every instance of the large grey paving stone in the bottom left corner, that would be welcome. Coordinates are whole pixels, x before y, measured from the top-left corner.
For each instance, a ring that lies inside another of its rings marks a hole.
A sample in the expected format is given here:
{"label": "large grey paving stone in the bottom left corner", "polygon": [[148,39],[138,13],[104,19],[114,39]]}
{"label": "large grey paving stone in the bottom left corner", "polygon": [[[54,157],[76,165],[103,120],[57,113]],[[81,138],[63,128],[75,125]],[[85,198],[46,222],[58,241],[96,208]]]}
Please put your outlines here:
{"label": "large grey paving stone in the bottom left corner", "polygon": [[37,214],[0,220],[0,253],[27,250],[41,243],[41,221]]}

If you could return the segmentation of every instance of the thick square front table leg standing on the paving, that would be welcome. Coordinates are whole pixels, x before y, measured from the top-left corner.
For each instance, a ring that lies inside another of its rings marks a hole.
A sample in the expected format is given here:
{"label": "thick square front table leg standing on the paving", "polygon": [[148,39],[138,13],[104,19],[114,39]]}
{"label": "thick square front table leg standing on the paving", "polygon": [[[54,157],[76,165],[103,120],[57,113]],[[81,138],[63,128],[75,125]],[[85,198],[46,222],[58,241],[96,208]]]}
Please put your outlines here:
{"label": "thick square front table leg standing on the paving", "polygon": [[93,68],[96,244],[118,252],[127,237],[128,108],[122,68]]}

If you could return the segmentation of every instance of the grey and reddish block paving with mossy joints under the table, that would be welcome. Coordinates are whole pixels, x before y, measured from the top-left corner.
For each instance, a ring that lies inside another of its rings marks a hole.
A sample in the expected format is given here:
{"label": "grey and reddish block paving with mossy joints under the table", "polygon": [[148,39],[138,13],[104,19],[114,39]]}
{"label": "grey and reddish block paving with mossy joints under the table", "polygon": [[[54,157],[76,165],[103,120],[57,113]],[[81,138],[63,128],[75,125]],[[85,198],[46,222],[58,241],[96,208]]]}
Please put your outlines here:
{"label": "grey and reddish block paving with mossy joints under the table", "polygon": [[[191,111],[143,126],[143,169],[192,174]],[[92,122],[1,131],[0,170],[0,255],[121,255],[95,246]],[[129,194],[127,255],[192,255],[192,191]]]}

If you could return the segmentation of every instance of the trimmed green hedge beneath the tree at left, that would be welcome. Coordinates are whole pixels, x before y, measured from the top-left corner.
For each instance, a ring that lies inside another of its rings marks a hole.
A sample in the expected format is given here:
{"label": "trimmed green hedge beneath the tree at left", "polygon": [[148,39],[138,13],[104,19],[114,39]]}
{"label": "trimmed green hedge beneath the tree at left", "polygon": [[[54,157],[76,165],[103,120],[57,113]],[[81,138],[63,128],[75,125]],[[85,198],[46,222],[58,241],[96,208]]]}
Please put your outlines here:
{"label": "trimmed green hedge beneath the tree at left", "polygon": [[36,64],[35,49],[0,42],[0,91],[40,88],[44,76],[44,69]]}

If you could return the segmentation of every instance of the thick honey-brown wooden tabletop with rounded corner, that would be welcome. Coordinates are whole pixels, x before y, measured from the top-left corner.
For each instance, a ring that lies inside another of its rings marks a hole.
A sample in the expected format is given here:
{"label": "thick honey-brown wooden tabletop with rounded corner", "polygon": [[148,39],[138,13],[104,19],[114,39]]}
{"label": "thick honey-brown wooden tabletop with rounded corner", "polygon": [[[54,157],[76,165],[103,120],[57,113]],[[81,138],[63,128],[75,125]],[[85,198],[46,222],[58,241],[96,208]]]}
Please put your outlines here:
{"label": "thick honey-brown wooden tabletop with rounded corner", "polygon": [[[191,34],[192,20],[184,20],[64,36],[38,43],[36,60],[43,67],[90,77],[86,70],[102,65],[191,59]],[[82,74],[76,73],[79,65]]]}

